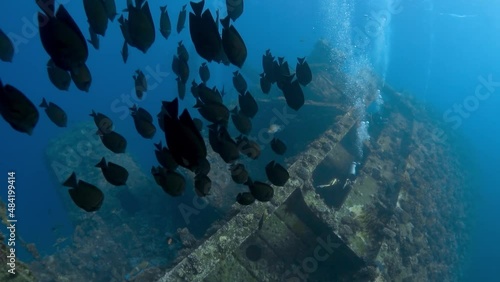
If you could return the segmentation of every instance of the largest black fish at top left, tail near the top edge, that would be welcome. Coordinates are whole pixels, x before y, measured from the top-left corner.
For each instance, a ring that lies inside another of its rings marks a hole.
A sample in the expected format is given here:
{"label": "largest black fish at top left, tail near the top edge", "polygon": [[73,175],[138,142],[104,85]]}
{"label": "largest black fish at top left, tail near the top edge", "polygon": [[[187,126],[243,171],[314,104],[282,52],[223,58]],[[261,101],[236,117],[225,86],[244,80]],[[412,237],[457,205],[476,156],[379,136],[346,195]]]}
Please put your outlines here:
{"label": "largest black fish at top left, tail near the top edge", "polygon": [[68,11],[59,5],[54,13],[54,0],[38,0],[37,4],[44,11],[38,13],[40,39],[54,63],[67,71],[85,64],[87,41]]}

